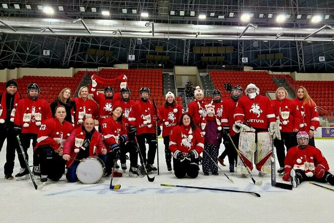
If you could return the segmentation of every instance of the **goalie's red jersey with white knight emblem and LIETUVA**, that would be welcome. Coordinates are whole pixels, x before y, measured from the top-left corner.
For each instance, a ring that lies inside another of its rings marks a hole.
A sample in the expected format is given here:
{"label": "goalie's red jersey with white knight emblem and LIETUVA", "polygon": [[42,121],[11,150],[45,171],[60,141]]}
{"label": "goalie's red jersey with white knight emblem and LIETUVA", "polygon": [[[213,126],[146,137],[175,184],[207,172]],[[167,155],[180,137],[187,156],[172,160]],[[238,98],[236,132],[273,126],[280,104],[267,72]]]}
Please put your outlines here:
{"label": "goalie's red jersey with white knight emblem and LIETUVA", "polygon": [[234,111],[234,119],[256,129],[267,129],[269,123],[276,121],[269,98],[262,95],[253,99],[248,96],[240,97]]}

